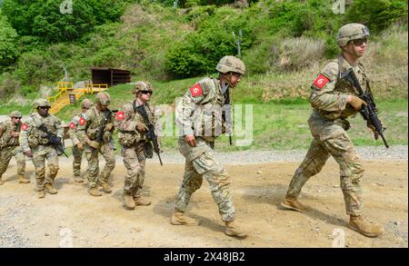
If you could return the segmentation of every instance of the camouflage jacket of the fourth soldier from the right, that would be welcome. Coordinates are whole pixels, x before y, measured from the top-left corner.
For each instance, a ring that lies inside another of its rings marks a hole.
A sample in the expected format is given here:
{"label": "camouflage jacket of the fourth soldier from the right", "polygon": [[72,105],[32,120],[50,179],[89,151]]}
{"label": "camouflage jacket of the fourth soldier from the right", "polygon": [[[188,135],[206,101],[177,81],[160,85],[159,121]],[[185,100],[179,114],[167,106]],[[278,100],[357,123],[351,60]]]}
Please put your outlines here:
{"label": "camouflage jacket of the fourth soldier from the right", "polygon": [[[106,110],[105,112],[111,112],[111,111]],[[99,131],[101,129],[101,125],[105,121],[105,112],[100,112],[96,108],[96,106],[92,106],[83,115],[83,118],[85,119],[85,124],[84,124],[85,125],[85,135],[91,141],[95,141],[96,138],[98,137]],[[111,118],[109,119],[109,121],[106,124],[108,124],[108,123],[113,123],[114,124],[114,122],[115,122],[115,116],[111,112]],[[114,133],[114,131],[115,131],[115,127],[113,126],[110,133]]]}

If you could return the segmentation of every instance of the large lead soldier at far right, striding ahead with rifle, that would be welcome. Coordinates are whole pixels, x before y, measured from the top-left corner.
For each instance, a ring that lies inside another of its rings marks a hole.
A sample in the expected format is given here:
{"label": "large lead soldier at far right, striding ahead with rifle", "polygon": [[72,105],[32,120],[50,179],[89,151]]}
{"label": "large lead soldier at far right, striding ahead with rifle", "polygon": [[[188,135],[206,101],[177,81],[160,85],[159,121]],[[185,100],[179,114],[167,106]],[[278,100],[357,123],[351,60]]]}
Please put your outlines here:
{"label": "large lead soldier at far right, striding ahead with rifle", "polygon": [[384,227],[364,219],[360,184],[364,167],[346,133],[350,128],[346,119],[358,113],[366,103],[356,96],[351,84],[340,79],[341,74],[353,68],[361,86],[370,90],[364,66],[359,62],[368,44],[368,36],[368,28],[361,24],[344,25],[338,31],[336,41],[342,54],[324,66],[311,86],[310,103],[314,110],[308,124],[314,139],[303,163],[295,171],[281,205],[298,212],[308,211],[297,197],[304,183],[321,172],[332,155],[340,166],[346,213],[350,215],[349,228],[376,237],[384,232]]}

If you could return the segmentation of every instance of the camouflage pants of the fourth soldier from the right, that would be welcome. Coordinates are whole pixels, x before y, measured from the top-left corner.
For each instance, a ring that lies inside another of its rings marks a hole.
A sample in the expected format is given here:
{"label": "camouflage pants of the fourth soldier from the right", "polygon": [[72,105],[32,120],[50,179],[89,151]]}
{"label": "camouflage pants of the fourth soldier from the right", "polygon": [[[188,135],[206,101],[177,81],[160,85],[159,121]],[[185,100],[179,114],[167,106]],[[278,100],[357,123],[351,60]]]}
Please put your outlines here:
{"label": "camouflage pants of the fourth soldier from the right", "polygon": [[[105,159],[104,170],[99,174],[98,153],[101,153]],[[109,175],[115,168],[115,153],[109,144],[104,144],[99,150],[85,146],[85,157],[88,161],[87,179],[90,188],[96,187],[98,183],[108,182]]]}

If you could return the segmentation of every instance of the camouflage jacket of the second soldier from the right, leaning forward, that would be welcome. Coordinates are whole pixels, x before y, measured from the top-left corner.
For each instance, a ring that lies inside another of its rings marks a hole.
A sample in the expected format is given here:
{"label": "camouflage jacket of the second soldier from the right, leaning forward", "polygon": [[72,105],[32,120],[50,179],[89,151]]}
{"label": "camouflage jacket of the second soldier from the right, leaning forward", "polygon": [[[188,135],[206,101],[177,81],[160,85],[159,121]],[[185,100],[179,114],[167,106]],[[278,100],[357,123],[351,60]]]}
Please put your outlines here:
{"label": "camouflage jacket of the second soldier from the right, leaning forward", "polygon": [[194,134],[213,142],[225,133],[222,113],[227,93],[223,92],[220,81],[213,77],[205,77],[189,88],[176,107],[180,135]]}

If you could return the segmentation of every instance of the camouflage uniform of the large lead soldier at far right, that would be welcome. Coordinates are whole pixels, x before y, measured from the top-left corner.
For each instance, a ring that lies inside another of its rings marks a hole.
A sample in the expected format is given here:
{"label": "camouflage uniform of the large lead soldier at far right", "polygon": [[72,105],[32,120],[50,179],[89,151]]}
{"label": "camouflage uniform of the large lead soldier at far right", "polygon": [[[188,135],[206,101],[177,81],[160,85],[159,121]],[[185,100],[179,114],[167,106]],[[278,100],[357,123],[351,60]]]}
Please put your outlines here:
{"label": "camouflage uniform of the large lead soldier at far right", "polygon": [[340,166],[346,213],[357,216],[361,214],[363,208],[360,182],[364,167],[346,133],[350,128],[346,119],[357,113],[346,103],[346,98],[348,94],[355,94],[355,91],[351,84],[339,78],[340,73],[349,68],[354,69],[361,86],[370,90],[369,79],[362,64],[350,65],[343,56],[340,56],[324,66],[312,84],[313,91],[310,95],[314,111],[308,124],[314,140],[303,163],[294,173],[287,195],[298,196],[304,183],[320,172],[326,160],[332,155]]}

